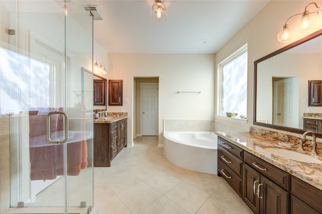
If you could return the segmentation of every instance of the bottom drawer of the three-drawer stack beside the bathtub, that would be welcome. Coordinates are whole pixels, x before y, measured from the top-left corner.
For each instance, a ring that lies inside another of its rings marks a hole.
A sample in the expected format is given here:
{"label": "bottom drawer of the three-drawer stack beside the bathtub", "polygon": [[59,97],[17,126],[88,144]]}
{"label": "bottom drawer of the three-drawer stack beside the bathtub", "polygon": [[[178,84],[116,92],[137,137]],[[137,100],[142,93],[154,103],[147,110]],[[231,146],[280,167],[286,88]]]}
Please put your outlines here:
{"label": "bottom drawer of the three-drawer stack beside the bathtub", "polygon": [[236,173],[234,173],[226,164],[224,164],[219,158],[217,166],[218,173],[222,175],[222,177],[241,197],[241,193],[243,192],[243,180]]}

